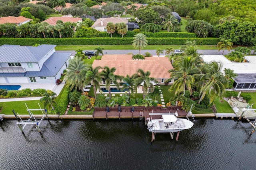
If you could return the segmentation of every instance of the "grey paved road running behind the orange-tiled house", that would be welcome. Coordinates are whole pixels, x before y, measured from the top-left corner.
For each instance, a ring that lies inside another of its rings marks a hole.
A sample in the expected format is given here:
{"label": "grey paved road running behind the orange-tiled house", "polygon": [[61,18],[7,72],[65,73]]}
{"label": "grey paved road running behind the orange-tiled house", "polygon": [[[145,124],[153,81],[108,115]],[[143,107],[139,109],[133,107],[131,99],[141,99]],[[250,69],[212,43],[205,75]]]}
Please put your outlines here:
{"label": "grey paved road running behind the orange-tiled house", "polygon": [[[86,51],[86,50],[85,50]],[[233,50],[230,50],[230,52]],[[72,55],[75,55],[75,51],[56,51],[56,52],[64,52],[64,53],[72,53]],[[140,50],[141,54],[144,54],[145,52],[149,52],[151,55],[156,55],[156,49],[142,49]],[[165,51],[164,51],[165,52]],[[123,50],[103,50],[103,53],[107,54],[127,54],[127,53],[133,53],[138,54],[138,49],[123,49]],[[222,55],[222,50],[220,52],[217,49],[200,49],[198,50],[198,53],[202,53],[203,55]],[[224,50],[224,55],[228,54],[228,50]]]}

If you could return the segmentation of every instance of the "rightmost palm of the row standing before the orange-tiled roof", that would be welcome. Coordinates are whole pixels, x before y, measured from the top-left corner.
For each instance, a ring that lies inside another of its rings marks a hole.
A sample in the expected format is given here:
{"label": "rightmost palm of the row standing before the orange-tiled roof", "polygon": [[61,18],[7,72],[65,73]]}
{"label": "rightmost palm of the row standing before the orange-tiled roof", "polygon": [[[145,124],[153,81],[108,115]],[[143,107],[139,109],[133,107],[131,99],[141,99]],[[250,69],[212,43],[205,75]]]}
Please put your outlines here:
{"label": "rightmost palm of the row standing before the orange-tiled roof", "polygon": [[150,71],[144,72],[142,69],[137,70],[137,74],[134,75],[135,78],[135,85],[138,87],[139,85],[142,85],[143,90],[143,99],[145,98],[145,95],[148,93],[148,88],[150,88],[150,91],[153,91],[153,83],[157,83],[156,79],[153,77],[150,77]]}

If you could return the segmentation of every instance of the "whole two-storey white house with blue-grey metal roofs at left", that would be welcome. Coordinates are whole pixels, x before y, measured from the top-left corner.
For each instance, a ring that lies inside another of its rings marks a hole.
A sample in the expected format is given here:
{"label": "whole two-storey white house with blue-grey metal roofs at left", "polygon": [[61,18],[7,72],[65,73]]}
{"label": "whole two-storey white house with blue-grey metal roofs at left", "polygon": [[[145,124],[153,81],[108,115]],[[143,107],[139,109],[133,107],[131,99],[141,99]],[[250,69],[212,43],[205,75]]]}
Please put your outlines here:
{"label": "whole two-storey white house with blue-grey metal roofs at left", "polygon": [[68,67],[71,55],[56,53],[55,46],[0,46],[0,82],[55,84]]}

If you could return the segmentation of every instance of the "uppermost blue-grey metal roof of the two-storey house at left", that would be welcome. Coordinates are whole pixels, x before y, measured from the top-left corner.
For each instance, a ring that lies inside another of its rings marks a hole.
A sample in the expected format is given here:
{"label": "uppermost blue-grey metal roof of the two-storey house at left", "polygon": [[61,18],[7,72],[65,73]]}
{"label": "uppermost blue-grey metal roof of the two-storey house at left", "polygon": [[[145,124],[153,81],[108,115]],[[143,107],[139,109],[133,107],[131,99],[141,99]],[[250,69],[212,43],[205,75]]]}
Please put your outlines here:
{"label": "uppermost blue-grey metal roof of the two-storey house at left", "polygon": [[37,47],[2,45],[0,46],[0,63],[38,63],[55,46],[46,44]]}

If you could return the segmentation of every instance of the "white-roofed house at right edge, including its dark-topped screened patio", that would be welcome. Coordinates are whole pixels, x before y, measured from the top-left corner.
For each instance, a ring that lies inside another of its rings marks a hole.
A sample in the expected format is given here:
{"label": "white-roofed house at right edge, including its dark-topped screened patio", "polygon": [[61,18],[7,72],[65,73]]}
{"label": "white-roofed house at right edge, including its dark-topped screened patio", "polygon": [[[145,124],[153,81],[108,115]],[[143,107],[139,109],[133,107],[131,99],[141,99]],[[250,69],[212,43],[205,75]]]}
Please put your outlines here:
{"label": "white-roofed house at right edge, including its dark-topped screened patio", "polygon": [[217,61],[222,63],[222,73],[224,69],[234,70],[237,76],[234,79],[233,87],[235,90],[256,90],[256,56],[245,56],[248,62],[235,63],[228,60],[223,55],[204,55],[206,63]]}

